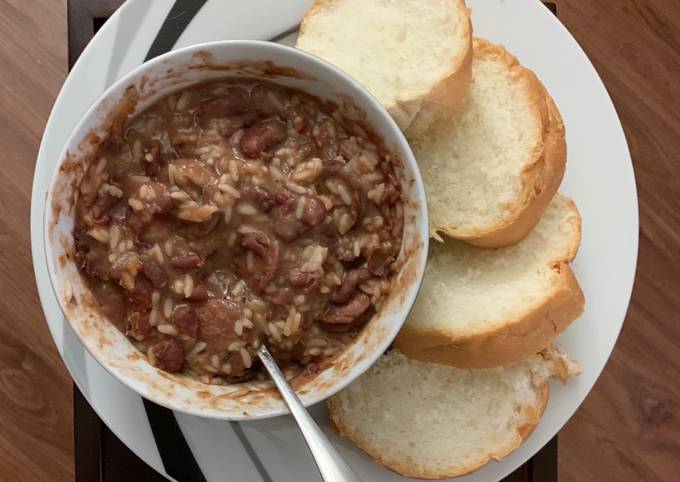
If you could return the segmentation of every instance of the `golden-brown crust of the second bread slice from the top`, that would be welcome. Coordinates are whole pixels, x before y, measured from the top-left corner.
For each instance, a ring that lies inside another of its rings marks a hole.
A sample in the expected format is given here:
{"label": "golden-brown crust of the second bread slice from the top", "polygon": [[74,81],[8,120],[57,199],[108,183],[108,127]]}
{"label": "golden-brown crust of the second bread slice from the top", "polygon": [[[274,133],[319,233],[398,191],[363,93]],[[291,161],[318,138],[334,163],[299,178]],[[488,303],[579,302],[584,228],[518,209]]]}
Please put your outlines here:
{"label": "golden-brown crust of the second bread slice from the top", "polygon": [[433,236],[442,233],[482,248],[500,248],[516,244],[526,237],[541,218],[558,187],[562,183],[567,160],[567,144],[562,117],[557,105],[541,81],[505,48],[483,39],[474,40],[474,55],[500,58],[518,79],[528,85],[528,95],[538,113],[540,125],[536,135],[541,141],[527,159],[521,174],[521,191],[508,206],[511,213],[494,226],[480,229],[460,229],[433,226]]}

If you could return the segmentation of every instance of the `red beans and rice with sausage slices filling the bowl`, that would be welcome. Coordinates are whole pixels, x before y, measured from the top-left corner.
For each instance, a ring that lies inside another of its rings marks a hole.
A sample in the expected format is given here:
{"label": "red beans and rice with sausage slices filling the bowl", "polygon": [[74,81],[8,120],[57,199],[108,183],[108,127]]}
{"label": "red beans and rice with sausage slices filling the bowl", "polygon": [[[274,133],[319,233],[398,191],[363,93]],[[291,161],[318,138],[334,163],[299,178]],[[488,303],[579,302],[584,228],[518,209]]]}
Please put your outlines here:
{"label": "red beans and rice with sausage slices filling the bowl", "polygon": [[81,273],[151,364],[206,383],[337,355],[390,289],[400,166],[364,128],[261,81],[167,96],[86,172]]}

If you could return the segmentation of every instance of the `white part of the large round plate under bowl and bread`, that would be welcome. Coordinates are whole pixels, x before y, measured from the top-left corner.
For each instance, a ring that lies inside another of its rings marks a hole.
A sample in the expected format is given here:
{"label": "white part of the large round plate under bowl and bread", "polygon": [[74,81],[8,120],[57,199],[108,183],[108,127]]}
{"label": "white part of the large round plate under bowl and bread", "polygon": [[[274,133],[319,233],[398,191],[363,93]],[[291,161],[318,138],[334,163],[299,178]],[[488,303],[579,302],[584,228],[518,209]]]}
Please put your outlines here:
{"label": "white part of the large round plate under bowl and bread", "polygon": [[[62,317],[47,277],[42,223],[48,183],[68,134],[105,87],[142,62],[172,3],[126,2],[85,50],[45,129],[31,203],[36,282],[55,344],[102,420],[160,472],[163,466],[141,398],[90,357]],[[310,3],[209,0],[176,47],[218,39],[271,38],[297,24]],[[543,420],[520,449],[457,479],[481,482],[499,480],[529,459],[559,431],[595,383],[628,307],[637,258],[638,215],[630,154],[620,122],[597,73],[562,24],[537,0],[468,0],[468,4],[475,35],[504,44],[532,68],[562,112],[569,157],[561,191],[576,201],[583,217],[583,240],[574,268],[586,295],[585,314],[559,339],[559,345],[580,361],[583,374],[567,386],[553,385]],[[327,427],[325,408],[316,406],[313,413]],[[318,480],[288,417],[241,423],[236,431],[235,425],[226,422],[179,414],[177,419],[208,480],[266,480],[263,471],[277,482]],[[364,480],[404,480],[349,442],[330,436]]]}

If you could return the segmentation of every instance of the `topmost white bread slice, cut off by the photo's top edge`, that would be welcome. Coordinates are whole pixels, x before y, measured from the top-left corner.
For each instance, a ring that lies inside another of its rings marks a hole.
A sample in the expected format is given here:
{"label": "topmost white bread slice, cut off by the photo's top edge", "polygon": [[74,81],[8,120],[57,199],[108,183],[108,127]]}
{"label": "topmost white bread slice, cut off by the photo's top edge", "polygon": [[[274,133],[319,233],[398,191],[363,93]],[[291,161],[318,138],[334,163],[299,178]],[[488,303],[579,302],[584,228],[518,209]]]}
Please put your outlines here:
{"label": "topmost white bread slice, cut off by the photo's top edge", "polygon": [[463,0],[316,0],[296,47],[362,83],[408,135],[452,112],[470,83]]}

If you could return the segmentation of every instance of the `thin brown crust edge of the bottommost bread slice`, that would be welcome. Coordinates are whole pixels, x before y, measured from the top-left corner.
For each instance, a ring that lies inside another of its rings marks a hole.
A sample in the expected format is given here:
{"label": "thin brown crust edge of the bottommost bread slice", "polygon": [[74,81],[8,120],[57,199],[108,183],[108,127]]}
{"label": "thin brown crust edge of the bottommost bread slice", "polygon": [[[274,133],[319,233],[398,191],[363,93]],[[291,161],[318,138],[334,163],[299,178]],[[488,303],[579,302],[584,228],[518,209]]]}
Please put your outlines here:
{"label": "thin brown crust edge of the bottommost bread slice", "polygon": [[425,480],[441,480],[450,477],[459,477],[474,472],[492,460],[501,460],[508,456],[531,435],[534,428],[541,420],[543,412],[548,404],[550,395],[550,384],[548,380],[542,382],[539,386],[534,388],[536,391],[536,405],[524,404],[522,406],[522,413],[525,418],[525,423],[517,428],[517,435],[509,443],[502,447],[496,447],[489,450],[486,454],[480,454],[477,460],[470,462],[465,467],[420,467],[411,459],[391,460],[380,453],[378,449],[372,447],[371,444],[363,439],[359,434],[353,432],[342,425],[340,420],[340,406],[335,397],[329,399],[326,404],[330,411],[331,428],[341,437],[350,439],[357,447],[366,452],[377,463],[387,467],[393,472],[404,477],[412,477],[414,479]]}

